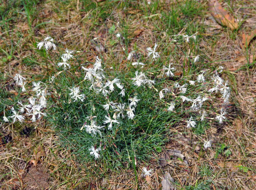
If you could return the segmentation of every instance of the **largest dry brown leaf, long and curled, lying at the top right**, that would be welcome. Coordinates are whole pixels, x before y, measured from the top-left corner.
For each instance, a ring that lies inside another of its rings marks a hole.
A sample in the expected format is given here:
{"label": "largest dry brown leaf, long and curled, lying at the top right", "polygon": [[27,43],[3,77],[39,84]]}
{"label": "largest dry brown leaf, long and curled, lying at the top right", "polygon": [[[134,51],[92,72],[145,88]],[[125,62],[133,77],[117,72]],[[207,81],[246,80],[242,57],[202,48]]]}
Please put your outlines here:
{"label": "largest dry brown leaf, long and curled, lying at the top right", "polygon": [[210,0],[208,2],[208,6],[212,16],[217,20],[217,22],[224,26],[230,27],[232,30],[238,28],[238,23],[235,21],[234,17],[229,15],[217,0]]}

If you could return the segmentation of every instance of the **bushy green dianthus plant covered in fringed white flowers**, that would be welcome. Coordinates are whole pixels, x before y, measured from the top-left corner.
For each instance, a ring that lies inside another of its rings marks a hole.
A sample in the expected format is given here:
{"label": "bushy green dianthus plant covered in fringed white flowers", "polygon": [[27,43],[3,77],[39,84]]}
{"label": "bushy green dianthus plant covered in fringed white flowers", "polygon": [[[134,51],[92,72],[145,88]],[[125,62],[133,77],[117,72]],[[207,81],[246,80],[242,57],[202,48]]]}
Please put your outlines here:
{"label": "bushy green dianthus plant covered in fringed white flowers", "polygon": [[[186,46],[189,39],[196,36],[177,35],[175,41]],[[223,123],[230,97],[228,81],[221,78],[223,68],[190,69],[188,75],[177,76],[178,70],[186,73],[184,67],[163,58],[157,43],[152,47],[127,52],[127,67],[118,70],[104,55],[84,63],[82,51],[61,48],[46,37],[37,48],[45,49],[42,60],[55,67],[47,79],[14,76],[20,93],[30,96],[9,107],[3,121],[31,120],[36,127],[45,118],[76,158],[108,162],[146,160],[164,145],[169,127],[177,123],[186,130],[196,130],[200,122]],[[55,49],[62,53],[51,53]],[[133,60],[140,53],[145,57]],[[202,60],[199,55],[193,58],[191,65]]]}

